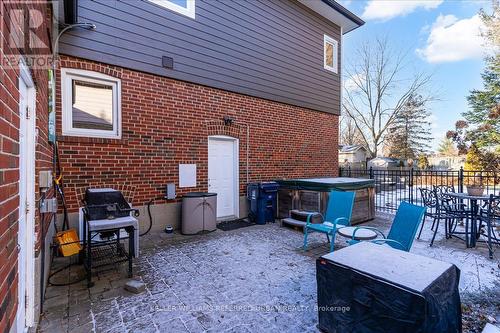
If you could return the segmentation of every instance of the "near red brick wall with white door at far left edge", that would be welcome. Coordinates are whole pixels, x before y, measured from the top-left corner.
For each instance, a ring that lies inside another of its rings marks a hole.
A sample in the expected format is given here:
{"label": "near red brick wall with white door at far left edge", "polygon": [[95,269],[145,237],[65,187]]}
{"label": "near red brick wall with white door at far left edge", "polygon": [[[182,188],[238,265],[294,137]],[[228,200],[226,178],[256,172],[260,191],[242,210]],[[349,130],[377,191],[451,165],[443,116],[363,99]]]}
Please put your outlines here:
{"label": "near red brick wall with white door at far left edge", "polygon": [[45,1],[0,6],[0,332],[15,333],[36,326],[42,257],[49,254],[38,207],[52,196],[39,186],[40,172],[52,169],[43,67],[52,58],[51,7]]}

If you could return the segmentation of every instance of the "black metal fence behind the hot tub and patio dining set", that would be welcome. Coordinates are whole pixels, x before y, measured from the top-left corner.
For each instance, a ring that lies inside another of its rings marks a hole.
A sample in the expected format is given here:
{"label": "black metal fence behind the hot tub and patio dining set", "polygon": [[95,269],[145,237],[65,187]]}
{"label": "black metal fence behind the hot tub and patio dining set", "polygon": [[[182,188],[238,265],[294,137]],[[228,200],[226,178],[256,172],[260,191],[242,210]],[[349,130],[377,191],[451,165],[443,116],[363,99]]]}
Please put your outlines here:
{"label": "black metal fence behind the hot tub and patio dining set", "polygon": [[482,185],[484,194],[499,194],[500,171],[398,169],[339,169],[340,177],[375,180],[375,207],[379,211],[396,210],[401,201],[421,204],[419,188],[449,185],[456,192],[467,192],[467,186]]}

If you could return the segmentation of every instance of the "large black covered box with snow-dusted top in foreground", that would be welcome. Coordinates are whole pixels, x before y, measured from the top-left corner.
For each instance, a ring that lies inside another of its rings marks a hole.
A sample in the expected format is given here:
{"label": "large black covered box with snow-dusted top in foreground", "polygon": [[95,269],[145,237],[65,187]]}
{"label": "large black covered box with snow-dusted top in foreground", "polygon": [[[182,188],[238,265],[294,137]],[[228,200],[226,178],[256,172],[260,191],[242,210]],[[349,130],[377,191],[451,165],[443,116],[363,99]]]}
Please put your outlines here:
{"label": "large black covered box with snow-dusted top in foreground", "polygon": [[452,264],[361,242],[316,261],[324,332],[461,332],[460,271]]}

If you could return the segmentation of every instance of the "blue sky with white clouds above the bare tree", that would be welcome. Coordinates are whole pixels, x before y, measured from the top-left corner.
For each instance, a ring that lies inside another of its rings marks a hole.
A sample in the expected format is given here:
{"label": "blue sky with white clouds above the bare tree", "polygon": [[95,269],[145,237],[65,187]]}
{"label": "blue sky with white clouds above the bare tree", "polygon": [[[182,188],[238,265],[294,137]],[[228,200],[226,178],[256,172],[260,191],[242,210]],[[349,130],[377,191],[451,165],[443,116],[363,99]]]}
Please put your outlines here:
{"label": "blue sky with white clouds above the bare tree", "polygon": [[[344,65],[365,41],[386,37],[391,46],[408,50],[407,75],[432,74],[429,92],[438,100],[432,113],[432,147],[454,128],[467,110],[466,97],[481,89],[485,48],[478,12],[491,11],[489,0],[341,0],[365,25],[344,36]],[[348,80],[344,80],[345,82]]]}

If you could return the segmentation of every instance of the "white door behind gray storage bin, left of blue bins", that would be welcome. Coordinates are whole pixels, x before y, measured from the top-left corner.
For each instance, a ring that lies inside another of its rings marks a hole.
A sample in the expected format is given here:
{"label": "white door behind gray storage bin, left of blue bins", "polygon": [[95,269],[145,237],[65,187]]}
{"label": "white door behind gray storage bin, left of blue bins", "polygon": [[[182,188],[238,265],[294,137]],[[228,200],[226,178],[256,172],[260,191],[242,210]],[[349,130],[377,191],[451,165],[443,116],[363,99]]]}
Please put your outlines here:
{"label": "white door behind gray storage bin, left of blue bins", "polygon": [[217,193],[217,218],[238,217],[238,140],[208,139],[208,191]]}

